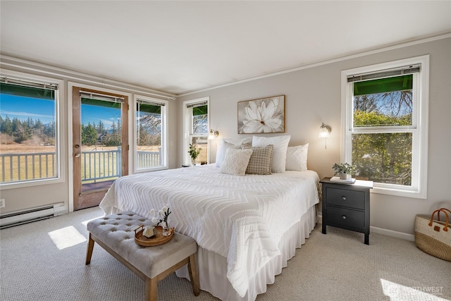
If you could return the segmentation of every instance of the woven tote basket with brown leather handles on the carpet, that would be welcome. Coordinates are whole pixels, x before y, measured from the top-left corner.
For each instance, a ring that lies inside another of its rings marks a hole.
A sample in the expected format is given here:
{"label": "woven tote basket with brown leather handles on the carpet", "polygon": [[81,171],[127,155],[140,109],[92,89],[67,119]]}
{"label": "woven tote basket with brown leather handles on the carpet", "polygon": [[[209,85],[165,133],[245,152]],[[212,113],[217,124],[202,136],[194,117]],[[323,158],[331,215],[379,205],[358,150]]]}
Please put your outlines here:
{"label": "woven tote basket with brown leather handles on the carpet", "polygon": [[[420,250],[451,262],[451,224],[447,211],[450,210],[442,208],[433,211],[431,217],[415,216],[415,244]],[[435,212],[437,220],[433,219]],[[445,213],[445,221],[440,221],[440,212]]]}

